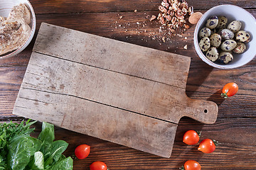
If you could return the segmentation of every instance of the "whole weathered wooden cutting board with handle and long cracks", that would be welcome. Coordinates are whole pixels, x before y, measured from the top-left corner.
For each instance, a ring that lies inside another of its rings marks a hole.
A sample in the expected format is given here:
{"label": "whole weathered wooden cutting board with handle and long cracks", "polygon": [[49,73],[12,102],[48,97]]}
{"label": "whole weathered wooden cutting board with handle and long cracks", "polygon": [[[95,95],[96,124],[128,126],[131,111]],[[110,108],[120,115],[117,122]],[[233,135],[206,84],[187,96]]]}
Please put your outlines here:
{"label": "whole weathered wooden cutting board with handle and long cracks", "polygon": [[178,121],[215,123],[186,96],[190,58],[43,23],[14,114],[171,157]]}

